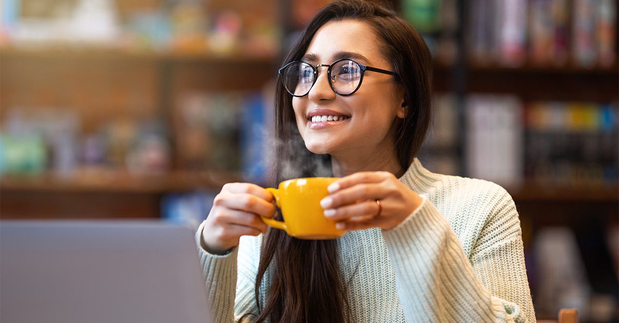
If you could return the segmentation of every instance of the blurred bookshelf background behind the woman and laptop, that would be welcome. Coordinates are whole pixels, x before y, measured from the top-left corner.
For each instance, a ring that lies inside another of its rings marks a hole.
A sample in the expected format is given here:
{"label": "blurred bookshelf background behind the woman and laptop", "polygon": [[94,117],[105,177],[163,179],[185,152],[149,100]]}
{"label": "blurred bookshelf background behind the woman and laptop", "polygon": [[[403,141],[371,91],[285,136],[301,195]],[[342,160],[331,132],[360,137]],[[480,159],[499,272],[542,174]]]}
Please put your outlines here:
{"label": "blurred bookshelf background behind the woman and laptop", "polygon": [[[268,184],[282,54],[326,0],[0,0],[0,218],[199,223]],[[539,319],[617,322],[617,1],[392,0],[434,58],[430,170],[521,215]]]}

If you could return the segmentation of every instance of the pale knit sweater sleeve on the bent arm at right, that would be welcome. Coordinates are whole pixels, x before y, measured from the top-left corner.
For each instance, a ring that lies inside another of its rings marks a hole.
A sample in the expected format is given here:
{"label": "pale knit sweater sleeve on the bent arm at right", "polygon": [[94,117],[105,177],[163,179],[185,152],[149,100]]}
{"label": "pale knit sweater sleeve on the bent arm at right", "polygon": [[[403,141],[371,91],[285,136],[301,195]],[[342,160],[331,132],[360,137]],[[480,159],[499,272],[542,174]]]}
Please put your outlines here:
{"label": "pale knit sweater sleeve on the bent arm at right", "polygon": [[518,214],[507,192],[497,200],[470,259],[426,197],[383,231],[407,321],[535,322]]}

